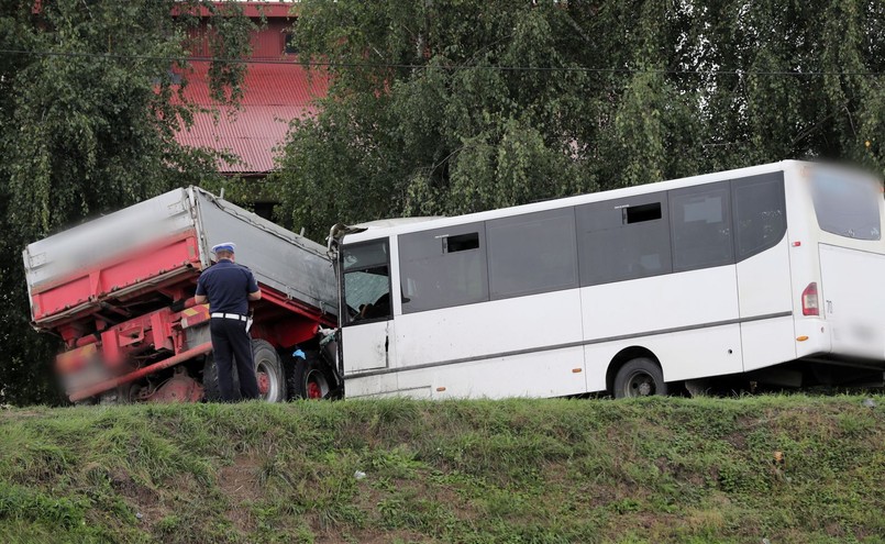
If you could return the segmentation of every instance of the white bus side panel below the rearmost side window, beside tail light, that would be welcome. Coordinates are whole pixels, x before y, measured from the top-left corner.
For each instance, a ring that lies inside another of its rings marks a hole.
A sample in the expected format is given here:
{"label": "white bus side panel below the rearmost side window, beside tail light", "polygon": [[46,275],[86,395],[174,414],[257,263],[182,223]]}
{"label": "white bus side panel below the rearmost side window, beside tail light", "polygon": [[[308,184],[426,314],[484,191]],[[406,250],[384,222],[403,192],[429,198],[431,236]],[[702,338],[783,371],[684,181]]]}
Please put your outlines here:
{"label": "white bus side panel below the rearmost side window, beside tail light", "polygon": [[[775,247],[738,263],[738,298],[744,371],[796,358],[787,236]],[[752,320],[752,321],[745,321]]]}

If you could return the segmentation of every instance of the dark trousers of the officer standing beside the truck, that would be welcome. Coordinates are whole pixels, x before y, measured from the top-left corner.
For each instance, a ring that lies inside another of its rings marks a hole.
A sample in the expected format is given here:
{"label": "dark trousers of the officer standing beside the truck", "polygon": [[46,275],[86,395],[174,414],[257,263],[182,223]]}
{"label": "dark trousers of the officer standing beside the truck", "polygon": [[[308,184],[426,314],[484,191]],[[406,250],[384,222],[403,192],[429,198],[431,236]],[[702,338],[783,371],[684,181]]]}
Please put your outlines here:
{"label": "dark trousers of the officer standing beside the truck", "polygon": [[[252,360],[252,338],[246,332],[246,323],[225,318],[212,318],[209,322],[212,334],[212,351],[218,366],[218,386],[222,400],[257,399],[258,381],[255,378],[255,364]],[[236,376],[240,379],[240,395],[233,390],[232,367],[236,362]]]}

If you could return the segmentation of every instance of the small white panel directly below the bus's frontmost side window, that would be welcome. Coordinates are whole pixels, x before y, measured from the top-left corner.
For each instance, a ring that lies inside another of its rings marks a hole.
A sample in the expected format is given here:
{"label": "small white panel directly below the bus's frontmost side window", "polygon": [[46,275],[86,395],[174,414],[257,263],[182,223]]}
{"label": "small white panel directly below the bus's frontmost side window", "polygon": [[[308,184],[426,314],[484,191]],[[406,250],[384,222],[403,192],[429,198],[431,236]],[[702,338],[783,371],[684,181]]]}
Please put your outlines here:
{"label": "small white panel directly below the bus's frontmost side window", "polygon": [[[361,323],[341,330],[344,375],[388,368],[396,360],[394,322]],[[347,386],[350,388],[350,386]],[[350,391],[349,391],[350,392]]]}

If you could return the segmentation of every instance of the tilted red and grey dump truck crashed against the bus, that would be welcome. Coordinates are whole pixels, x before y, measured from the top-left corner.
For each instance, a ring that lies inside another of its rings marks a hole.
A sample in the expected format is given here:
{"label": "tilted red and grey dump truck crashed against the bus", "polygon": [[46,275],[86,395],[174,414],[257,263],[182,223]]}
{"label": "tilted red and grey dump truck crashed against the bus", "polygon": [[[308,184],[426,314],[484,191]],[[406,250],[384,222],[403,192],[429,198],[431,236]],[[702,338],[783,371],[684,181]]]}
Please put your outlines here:
{"label": "tilted red and grey dump truck crashed against the bus", "polygon": [[262,398],[338,395],[334,342],[321,346],[322,332],[338,321],[325,247],[189,187],[25,248],[32,324],[64,342],[55,369],[68,398],[219,399],[209,307],[193,295],[213,263],[210,247],[229,241],[263,293],[252,306],[251,329]]}

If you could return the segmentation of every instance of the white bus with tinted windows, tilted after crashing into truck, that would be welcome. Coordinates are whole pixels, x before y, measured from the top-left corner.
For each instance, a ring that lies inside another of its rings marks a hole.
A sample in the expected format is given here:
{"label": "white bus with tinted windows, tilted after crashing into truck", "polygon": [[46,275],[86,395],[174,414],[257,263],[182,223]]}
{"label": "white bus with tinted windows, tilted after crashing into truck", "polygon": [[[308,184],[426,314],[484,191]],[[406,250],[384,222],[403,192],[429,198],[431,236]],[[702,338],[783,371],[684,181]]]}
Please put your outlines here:
{"label": "white bus with tinted windows, tilted after crashing into truck", "polygon": [[352,229],[346,396],[881,384],[884,206],[872,175],[787,160]]}

